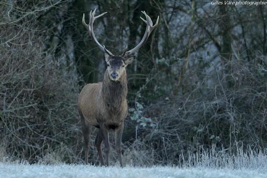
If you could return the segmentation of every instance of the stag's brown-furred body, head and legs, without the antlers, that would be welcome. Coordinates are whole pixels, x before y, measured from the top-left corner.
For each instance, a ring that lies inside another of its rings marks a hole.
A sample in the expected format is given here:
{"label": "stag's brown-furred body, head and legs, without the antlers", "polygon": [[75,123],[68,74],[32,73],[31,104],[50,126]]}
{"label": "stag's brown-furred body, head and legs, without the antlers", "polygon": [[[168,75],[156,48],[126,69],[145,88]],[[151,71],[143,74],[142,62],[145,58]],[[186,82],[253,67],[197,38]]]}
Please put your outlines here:
{"label": "stag's brown-furred body, head and legs, without the antlers", "polygon": [[[110,62],[110,61],[111,62]],[[119,56],[107,60],[110,67],[104,74],[103,82],[87,84],[83,87],[78,98],[78,111],[81,116],[82,131],[85,139],[85,163],[88,163],[89,137],[91,127],[99,128],[95,144],[101,164],[104,160],[101,150],[101,142],[104,140],[106,165],[109,165],[109,136],[110,128],[114,129],[116,150],[121,160],[121,135],[123,131],[123,120],[128,114],[126,96],[128,93],[127,75],[125,61]],[[110,62],[110,63],[109,63]],[[120,76],[116,81],[110,77],[110,73],[119,72]]]}

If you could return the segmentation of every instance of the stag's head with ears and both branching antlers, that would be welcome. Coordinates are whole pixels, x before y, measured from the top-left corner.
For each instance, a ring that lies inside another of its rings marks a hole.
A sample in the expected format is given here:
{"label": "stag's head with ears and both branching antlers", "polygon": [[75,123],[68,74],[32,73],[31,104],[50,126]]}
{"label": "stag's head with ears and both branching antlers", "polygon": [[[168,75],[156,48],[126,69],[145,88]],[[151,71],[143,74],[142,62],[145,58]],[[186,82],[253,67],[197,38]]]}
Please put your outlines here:
{"label": "stag's head with ears and both branching antlers", "polygon": [[106,49],[106,47],[104,45],[103,46],[100,45],[100,43],[97,41],[96,36],[94,34],[94,31],[93,31],[94,20],[103,16],[107,12],[104,12],[104,13],[96,16],[96,17],[94,16],[95,12],[96,12],[96,9],[93,11],[93,13],[92,13],[92,11],[90,11],[89,24],[85,23],[84,14],[83,14],[82,23],[89,31],[93,42],[95,42],[96,45],[101,49],[101,51],[103,51],[105,53],[105,58],[106,58],[106,63],[107,63],[107,71],[108,71],[110,80],[117,81],[125,73],[125,67],[128,64],[132,63],[135,59],[135,55],[132,57],[128,57],[128,56],[135,53],[137,50],[139,50],[139,48],[141,46],[143,46],[145,44],[145,42],[147,41],[148,36],[152,32],[152,30],[154,30],[156,28],[156,26],[158,26],[159,17],[157,19],[156,24],[153,26],[151,18],[146,14],[146,12],[141,11],[146,16],[146,20],[144,20],[142,17],[140,17],[140,18],[147,24],[147,28],[146,28],[145,34],[144,34],[141,42],[136,47],[134,47],[133,49],[131,49],[129,51],[127,51],[127,45],[126,45],[126,48],[125,48],[122,55],[113,55],[109,50]]}

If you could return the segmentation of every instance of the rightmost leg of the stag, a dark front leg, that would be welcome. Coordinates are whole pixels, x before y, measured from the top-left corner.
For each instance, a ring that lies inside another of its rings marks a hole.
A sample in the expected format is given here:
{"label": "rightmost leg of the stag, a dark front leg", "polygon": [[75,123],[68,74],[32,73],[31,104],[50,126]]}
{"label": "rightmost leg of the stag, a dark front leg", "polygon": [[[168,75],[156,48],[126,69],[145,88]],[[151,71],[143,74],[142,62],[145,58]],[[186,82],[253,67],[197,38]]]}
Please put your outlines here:
{"label": "rightmost leg of the stag, a dark front leg", "polygon": [[116,146],[116,151],[118,154],[118,160],[120,161],[121,167],[123,167],[122,159],[121,159],[121,136],[122,136],[122,133],[123,133],[123,122],[121,123],[121,125],[119,125],[114,130],[115,146]]}

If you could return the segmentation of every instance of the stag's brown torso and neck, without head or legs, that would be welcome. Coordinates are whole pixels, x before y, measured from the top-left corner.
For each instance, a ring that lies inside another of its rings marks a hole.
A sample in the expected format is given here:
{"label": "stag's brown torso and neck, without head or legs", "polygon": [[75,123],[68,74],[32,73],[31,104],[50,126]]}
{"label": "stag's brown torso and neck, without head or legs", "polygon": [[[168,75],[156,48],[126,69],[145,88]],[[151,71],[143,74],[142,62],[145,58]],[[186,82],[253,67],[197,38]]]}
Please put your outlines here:
{"label": "stag's brown torso and neck, without head or legs", "polygon": [[83,87],[78,98],[79,113],[90,125],[98,128],[101,123],[119,124],[128,114],[127,92],[126,72],[119,80],[112,81],[106,70],[103,82]]}

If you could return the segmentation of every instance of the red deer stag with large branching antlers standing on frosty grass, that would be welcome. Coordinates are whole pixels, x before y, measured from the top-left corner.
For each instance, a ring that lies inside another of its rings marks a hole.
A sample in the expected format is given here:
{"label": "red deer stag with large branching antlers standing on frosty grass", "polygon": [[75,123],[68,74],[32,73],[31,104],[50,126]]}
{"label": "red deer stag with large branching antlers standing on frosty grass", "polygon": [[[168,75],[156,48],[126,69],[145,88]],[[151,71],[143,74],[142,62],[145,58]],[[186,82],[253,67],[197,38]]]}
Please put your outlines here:
{"label": "red deer stag with large branching antlers standing on frosty grass", "polygon": [[[141,11],[145,15],[146,20],[142,17],[140,18],[147,24],[141,42],[129,51],[127,51],[128,45],[126,45],[122,55],[113,55],[104,45],[100,45],[93,31],[94,21],[107,12],[96,17],[95,12],[96,9],[93,12],[92,10],[90,11],[89,24],[85,23],[85,15],[83,14],[82,23],[89,31],[93,42],[104,52],[107,69],[104,72],[104,79],[102,82],[85,85],[78,97],[78,112],[81,118],[82,133],[85,141],[85,164],[88,164],[90,133],[92,127],[96,127],[98,128],[98,133],[96,135],[95,145],[101,166],[109,166],[109,130],[113,129],[117,158],[120,162],[120,166],[123,167],[121,139],[124,126],[123,121],[128,115],[128,104],[126,101],[128,82],[125,67],[132,63],[136,57],[135,55],[130,55],[145,44],[148,36],[158,26],[159,16],[153,26],[151,18],[145,11]],[[103,141],[105,162],[101,149],[101,143]]]}

